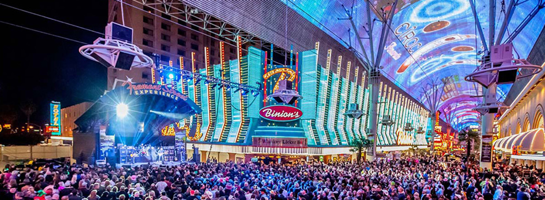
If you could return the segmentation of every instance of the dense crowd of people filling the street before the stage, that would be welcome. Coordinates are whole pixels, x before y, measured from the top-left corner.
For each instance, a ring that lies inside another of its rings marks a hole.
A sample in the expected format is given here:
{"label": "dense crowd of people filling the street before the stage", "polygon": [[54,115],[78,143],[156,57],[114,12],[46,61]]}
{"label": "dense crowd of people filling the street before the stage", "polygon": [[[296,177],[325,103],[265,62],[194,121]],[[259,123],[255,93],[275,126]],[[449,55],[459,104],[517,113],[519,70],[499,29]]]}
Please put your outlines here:
{"label": "dense crowd of people filling the street before the stage", "polygon": [[493,171],[439,157],[296,164],[203,163],[116,168],[46,164],[0,176],[0,199],[366,200],[543,199],[532,167]]}

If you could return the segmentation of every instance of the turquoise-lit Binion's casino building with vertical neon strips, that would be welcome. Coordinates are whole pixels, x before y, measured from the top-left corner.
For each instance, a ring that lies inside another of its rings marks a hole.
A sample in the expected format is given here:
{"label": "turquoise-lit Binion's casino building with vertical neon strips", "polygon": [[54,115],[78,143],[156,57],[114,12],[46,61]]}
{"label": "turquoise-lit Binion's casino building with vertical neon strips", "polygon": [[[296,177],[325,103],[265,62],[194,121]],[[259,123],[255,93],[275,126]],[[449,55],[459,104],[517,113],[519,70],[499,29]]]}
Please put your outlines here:
{"label": "turquoise-lit Binion's casino building with vertical neon strips", "polygon": [[[169,68],[178,67],[163,66],[164,70],[159,72],[163,74],[162,84],[175,84],[177,90],[194,99],[203,111],[166,126],[161,130],[162,135],[190,127],[187,139],[199,149],[202,161],[249,160],[256,156],[349,158],[350,142],[366,138],[367,115],[351,117],[348,112],[368,109],[369,92],[364,86],[367,74],[357,62],[343,60],[331,49],[319,46],[317,42],[314,49],[293,53],[289,59],[291,65],[271,64],[272,58],[267,56],[270,51],[250,47],[239,60],[222,59],[222,64],[207,62],[205,68],[193,68],[194,73],[262,87],[260,93],[184,76],[169,78],[172,73]],[[328,52],[328,65],[317,64],[319,51]],[[346,69],[344,73],[342,68]],[[275,95],[284,89],[300,97],[288,101],[278,98],[279,101]],[[395,119],[391,126],[379,126],[379,152],[403,150],[411,145],[426,147],[432,130],[427,109],[387,79],[381,81],[379,101],[383,102],[379,116]],[[404,130],[407,123],[414,130]],[[187,151],[192,154],[191,148]]]}

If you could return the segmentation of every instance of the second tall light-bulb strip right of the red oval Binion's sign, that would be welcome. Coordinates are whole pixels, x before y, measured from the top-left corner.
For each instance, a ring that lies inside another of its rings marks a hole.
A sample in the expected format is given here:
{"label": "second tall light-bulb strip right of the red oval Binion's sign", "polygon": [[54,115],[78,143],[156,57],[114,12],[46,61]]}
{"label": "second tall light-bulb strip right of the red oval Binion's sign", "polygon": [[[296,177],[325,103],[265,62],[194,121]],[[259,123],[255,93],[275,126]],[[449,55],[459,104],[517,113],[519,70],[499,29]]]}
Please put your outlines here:
{"label": "second tall light-bulb strip right of the red oval Binion's sign", "polygon": [[[316,63],[318,63],[318,62],[316,62]],[[329,145],[329,142],[330,142],[328,140],[328,138],[329,138],[328,129],[327,129],[327,127],[324,126],[326,110],[329,109],[328,106],[326,106],[326,105],[327,105],[327,102],[328,102],[327,95],[328,95],[328,86],[329,86],[328,84],[329,84],[329,67],[330,66],[331,66],[331,49],[328,49],[328,57],[327,57],[326,64],[325,64],[325,71],[324,71],[324,73],[321,73],[321,74],[325,75],[325,83],[323,85],[320,83],[320,86],[323,86],[323,87],[322,87],[322,92],[320,93],[320,95],[318,95],[318,100],[319,100],[318,102],[322,102],[323,104],[320,104],[322,106],[318,107],[318,120],[316,121],[317,122],[316,126],[317,126],[317,129],[318,129],[318,132],[324,134],[324,137],[326,139],[325,142],[320,141],[320,143],[323,143],[325,145]],[[320,80],[320,82],[321,82],[321,80]]]}

